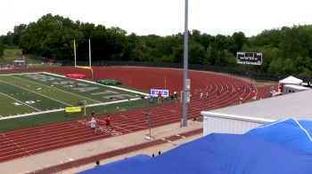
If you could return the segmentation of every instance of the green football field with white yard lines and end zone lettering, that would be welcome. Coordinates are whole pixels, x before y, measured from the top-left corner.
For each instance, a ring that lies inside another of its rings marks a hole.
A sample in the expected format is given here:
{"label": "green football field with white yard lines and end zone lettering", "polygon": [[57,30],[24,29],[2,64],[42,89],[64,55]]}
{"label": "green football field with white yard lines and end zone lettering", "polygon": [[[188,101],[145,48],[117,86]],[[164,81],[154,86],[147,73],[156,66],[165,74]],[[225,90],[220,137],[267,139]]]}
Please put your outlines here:
{"label": "green football field with white yard lines and end zone lettering", "polygon": [[88,107],[122,103],[138,94],[144,93],[45,72],[0,75],[0,116],[57,112],[81,100]]}

